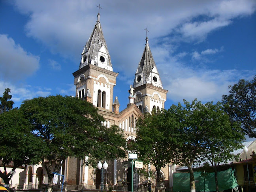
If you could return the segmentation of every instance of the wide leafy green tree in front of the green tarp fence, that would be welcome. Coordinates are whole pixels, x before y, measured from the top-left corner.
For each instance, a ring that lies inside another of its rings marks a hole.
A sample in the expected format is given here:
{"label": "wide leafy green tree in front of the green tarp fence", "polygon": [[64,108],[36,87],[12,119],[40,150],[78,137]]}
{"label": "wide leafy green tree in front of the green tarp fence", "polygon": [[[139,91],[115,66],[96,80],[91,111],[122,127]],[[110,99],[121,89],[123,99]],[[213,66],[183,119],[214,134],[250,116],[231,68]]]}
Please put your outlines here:
{"label": "wide leafy green tree in front of the green tarp fence", "polygon": [[[202,104],[195,99],[190,104],[184,100],[184,105],[172,105],[166,115],[170,128],[169,152],[175,156],[174,162],[188,167],[191,190],[195,189],[192,165],[197,160],[228,160],[232,158],[229,152],[243,140],[239,127],[231,127],[220,102]],[[220,151],[224,154],[219,155]]]}

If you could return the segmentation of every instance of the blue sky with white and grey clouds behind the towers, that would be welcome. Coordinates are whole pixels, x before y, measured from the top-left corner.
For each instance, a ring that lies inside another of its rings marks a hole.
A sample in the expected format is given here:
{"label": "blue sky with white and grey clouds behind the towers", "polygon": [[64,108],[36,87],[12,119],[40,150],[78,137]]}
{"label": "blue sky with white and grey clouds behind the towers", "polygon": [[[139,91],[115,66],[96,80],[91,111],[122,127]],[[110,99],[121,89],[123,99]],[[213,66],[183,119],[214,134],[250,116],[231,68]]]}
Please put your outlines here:
{"label": "blue sky with white and grey clouds behind the towers", "polygon": [[72,73],[97,20],[119,72],[114,96],[124,109],[149,45],[168,90],[165,108],[221,100],[228,85],[256,75],[255,0],[2,0],[0,95],[25,99],[75,95]]}

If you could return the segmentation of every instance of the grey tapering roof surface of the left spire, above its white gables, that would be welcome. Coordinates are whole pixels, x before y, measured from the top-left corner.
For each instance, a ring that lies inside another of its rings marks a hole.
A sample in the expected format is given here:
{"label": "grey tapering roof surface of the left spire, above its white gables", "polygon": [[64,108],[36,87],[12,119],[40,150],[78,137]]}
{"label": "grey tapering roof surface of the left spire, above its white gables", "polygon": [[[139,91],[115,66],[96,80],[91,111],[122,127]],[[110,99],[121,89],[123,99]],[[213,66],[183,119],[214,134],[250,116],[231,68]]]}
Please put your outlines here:
{"label": "grey tapering roof surface of the left spire, above its white gables", "polygon": [[[111,57],[109,55],[109,51],[107,49],[107,43],[105,41],[105,38],[104,38],[104,35],[103,35],[103,32],[102,32],[102,27],[101,27],[101,24],[100,24],[100,13],[98,13],[97,17],[98,17],[97,22],[94,26],[94,29],[92,30],[92,34],[90,35],[89,40],[87,41],[87,43],[85,45],[85,48],[83,49],[83,53],[85,53],[87,51],[89,52],[88,62],[90,63],[91,60],[93,60],[94,58],[96,58],[98,56],[98,51],[104,46],[105,51],[108,55],[107,65],[112,67]],[[79,68],[81,68],[81,64],[80,64]]]}

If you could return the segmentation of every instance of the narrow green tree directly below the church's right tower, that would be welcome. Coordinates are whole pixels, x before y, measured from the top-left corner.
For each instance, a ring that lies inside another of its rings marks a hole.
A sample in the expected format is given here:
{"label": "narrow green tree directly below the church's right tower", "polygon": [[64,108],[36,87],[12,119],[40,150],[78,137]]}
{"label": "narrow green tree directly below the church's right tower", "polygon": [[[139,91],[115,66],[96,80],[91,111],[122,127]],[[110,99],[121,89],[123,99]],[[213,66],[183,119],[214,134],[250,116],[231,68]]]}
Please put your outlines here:
{"label": "narrow green tree directly below the church's right tower", "polygon": [[165,125],[165,113],[152,111],[145,113],[137,122],[135,147],[138,157],[144,164],[156,168],[156,181],[159,182],[160,169],[171,162],[171,154],[166,150],[169,128]]}

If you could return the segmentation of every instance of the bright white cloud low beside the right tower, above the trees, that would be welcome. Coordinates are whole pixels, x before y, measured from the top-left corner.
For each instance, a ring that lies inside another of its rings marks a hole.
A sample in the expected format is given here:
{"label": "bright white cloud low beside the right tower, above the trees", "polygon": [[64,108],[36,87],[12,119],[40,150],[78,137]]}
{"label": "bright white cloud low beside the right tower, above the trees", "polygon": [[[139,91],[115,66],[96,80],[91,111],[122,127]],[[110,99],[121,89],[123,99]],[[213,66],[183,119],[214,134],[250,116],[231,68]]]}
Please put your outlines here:
{"label": "bright white cloud low beside the right tower, above the trees", "polygon": [[237,79],[251,79],[256,73],[255,70],[221,71],[182,65],[167,66],[158,68],[169,74],[162,76],[162,82],[168,90],[168,98],[174,102],[182,102],[183,99],[192,101],[194,98],[203,102],[220,101],[222,94],[228,94],[229,85],[237,83]]}

